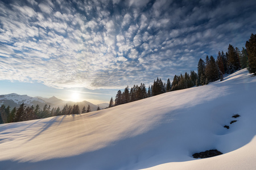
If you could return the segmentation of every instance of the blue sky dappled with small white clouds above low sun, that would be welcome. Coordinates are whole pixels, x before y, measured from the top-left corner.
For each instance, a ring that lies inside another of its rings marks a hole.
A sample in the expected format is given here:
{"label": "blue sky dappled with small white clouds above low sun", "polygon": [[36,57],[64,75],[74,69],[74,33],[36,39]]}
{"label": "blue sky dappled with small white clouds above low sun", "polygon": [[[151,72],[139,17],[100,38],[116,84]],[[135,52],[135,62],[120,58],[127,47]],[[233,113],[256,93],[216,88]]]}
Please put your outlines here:
{"label": "blue sky dappled with small white clouds above low sun", "polygon": [[[0,1],[0,94],[109,102],[256,33],[256,1]],[[74,97],[75,96],[75,97]]]}

